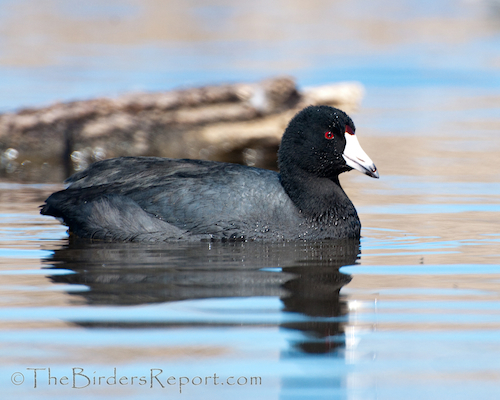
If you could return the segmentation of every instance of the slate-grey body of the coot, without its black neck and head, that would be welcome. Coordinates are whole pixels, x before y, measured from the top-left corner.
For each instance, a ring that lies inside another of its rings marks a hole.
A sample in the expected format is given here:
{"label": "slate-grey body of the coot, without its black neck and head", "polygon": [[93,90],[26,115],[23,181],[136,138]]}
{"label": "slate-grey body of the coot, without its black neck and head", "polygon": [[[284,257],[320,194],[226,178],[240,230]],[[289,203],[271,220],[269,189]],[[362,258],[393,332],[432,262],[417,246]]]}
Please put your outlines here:
{"label": "slate-grey body of the coot, without its black neck and head", "polygon": [[246,239],[279,236],[297,223],[276,172],[237,164],[125,157],[95,163],[68,182],[42,213],[82,237]]}

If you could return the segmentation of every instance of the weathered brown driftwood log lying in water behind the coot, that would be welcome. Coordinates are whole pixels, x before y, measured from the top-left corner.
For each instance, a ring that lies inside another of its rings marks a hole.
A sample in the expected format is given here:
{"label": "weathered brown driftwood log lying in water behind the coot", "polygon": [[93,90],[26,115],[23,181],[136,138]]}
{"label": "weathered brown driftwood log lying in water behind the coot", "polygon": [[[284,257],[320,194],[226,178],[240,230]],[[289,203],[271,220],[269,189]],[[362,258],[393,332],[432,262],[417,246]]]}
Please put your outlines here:
{"label": "weathered brown driftwood log lying in water behind the coot", "polygon": [[0,115],[0,174],[57,182],[100,159],[142,155],[274,168],[298,109],[327,104],[351,112],[362,95],[357,83],[299,91],[283,77],[23,109]]}

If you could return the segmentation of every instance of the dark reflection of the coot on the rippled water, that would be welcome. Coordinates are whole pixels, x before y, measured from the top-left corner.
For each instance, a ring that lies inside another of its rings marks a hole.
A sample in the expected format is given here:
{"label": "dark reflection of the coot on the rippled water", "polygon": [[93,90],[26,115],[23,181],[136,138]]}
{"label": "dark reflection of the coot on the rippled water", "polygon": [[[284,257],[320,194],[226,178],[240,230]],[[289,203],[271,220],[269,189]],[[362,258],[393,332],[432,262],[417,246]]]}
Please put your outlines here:
{"label": "dark reflection of the coot on the rippled water", "polygon": [[[359,240],[144,245],[70,239],[44,261],[47,268],[70,270],[48,278],[54,283],[85,285],[87,290],[68,294],[89,305],[279,297],[284,313],[306,317],[277,322],[282,328],[302,333],[303,340],[293,343],[295,350],[327,353],[343,344],[347,307],[340,289],[350,276],[340,273],[339,268],[354,264],[359,249]],[[79,324],[131,326],[102,321]],[[159,324],[170,325],[133,325]]]}

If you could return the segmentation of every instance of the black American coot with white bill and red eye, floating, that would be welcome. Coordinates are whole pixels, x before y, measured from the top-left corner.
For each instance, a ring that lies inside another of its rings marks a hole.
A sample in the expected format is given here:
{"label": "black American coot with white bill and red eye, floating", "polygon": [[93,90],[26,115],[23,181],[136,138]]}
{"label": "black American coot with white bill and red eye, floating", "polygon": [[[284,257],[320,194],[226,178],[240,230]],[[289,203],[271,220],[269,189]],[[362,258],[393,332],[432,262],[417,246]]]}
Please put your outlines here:
{"label": "black American coot with white bill and red eye, floating", "polygon": [[343,111],[310,106],[289,123],[280,173],[237,164],[121,157],[71,176],[41,208],[78,237],[115,241],[359,238],[338,175],[378,172]]}

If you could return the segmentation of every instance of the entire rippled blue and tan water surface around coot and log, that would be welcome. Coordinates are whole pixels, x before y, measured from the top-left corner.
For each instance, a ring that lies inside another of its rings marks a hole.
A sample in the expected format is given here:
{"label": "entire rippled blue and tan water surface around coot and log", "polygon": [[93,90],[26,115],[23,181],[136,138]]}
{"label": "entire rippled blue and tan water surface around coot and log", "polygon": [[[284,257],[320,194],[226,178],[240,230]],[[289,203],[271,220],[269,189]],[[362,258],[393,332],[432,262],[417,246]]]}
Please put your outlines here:
{"label": "entire rippled blue and tan water surface around coot and log", "polygon": [[498,398],[497,2],[43,3],[0,1],[0,111],[354,80],[381,178],[360,243],[73,242],[0,183],[2,398]]}

